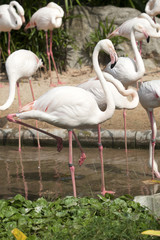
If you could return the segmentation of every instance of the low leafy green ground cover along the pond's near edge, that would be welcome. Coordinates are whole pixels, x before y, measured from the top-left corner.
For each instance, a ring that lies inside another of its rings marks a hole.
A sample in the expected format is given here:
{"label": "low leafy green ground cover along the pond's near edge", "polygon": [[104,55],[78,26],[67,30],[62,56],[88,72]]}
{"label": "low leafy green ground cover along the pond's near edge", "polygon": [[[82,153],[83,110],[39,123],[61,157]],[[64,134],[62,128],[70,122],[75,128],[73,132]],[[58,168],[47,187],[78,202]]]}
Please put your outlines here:
{"label": "low leafy green ground cover along the pond's near edge", "polygon": [[25,200],[16,195],[0,200],[0,239],[13,240],[13,228],[28,240],[129,240],[156,239],[141,235],[147,229],[160,229],[158,220],[131,198],[99,196],[65,197],[54,202],[39,198]]}

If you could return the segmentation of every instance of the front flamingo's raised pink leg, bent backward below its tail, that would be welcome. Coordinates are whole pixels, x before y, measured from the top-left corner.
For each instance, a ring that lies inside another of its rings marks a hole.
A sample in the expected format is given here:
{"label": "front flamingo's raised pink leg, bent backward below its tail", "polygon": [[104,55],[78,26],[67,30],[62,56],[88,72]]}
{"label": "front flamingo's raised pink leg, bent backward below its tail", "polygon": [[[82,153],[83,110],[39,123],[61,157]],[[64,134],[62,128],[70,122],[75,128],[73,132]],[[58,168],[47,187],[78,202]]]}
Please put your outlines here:
{"label": "front flamingo's raised pink leg, bent backward below its tail", "polygon": [[60,137],[58,137],[58,136],[55,136],[55,135],[53,135],[53,134],[51,134],[51,133],[48,133],[48,132],[46,132],[46,131],[44,131],[44,130],[42,130],[42,129],[40,129],[40,128],[36,128],[36,127],[34,127],[34,126],[32,126],[32,125],[29,125],[29,124],[27,124],[27,123],[24,123],[24,122],[22,122],[22,121],[20,121],[20,120],[16,120],[16,119],[14,119],[14,117],[16,117],[16,114],[15,114],[15,113],[9,114],[9,115],[7,116],[7,119],[8,119],[8,121],[10,121],[10,122],[14,122],[14,123],[17,123],[17,124],[21,124],[21,125],[23,125],[23,126],[25,126],[25,127],[29,127],[29,128],[35,129],[35,130],[37,130],[37,131],[39,131],[39,132],[42,132],[42,133],[44,133],[44,134],[46,134],[46,135],[48,135],[48,136],[50,136],[50,137],[55,138],[55,139],[57,140],[57,151],[60,152],[60,151],[62,150],[62,148],[63,148],[62,138],[60,138]]}

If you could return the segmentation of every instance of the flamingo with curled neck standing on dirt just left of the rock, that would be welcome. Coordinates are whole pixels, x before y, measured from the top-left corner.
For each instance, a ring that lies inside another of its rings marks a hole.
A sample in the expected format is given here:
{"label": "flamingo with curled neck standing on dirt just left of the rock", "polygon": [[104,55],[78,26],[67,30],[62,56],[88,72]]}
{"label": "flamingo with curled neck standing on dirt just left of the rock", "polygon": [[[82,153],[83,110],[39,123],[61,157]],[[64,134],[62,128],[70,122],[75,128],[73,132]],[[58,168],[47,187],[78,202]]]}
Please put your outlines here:
{"label": "flamingo with curled neck standing on dirt just left of the rock", "polygon": [[[37,27],[38,30],[44,30],[46,33],[46,49],[49,62],[49,74],[50,74],[50,86],[54,86],[51,78],[51,60],[56,70],[58,84],[61,84],[59,80],[57,67],[54,61],[52,52],[52,31],[54,28],[59,28],[62,25],[62,18],[64,16],[63,9],[54,2],[50,2],[46,7],[37,10],[31,17],[29,23],[25,29]],[[50,31],[50,48],[48,46],[48,30]]]}

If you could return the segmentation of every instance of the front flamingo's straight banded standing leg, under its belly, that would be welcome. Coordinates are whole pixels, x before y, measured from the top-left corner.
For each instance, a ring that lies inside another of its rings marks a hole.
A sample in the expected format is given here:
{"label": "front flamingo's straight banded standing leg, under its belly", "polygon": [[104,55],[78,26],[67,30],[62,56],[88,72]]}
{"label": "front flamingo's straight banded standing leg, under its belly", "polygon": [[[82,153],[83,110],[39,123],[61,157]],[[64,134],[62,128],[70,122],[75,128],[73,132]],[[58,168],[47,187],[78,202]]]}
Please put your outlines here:
{"label": "front flamingo's straight banded standing leg, under its belly", "polygon": [[73,195],[74,197],[77,197],[75,174],[74,174],[75,167],[73,166],[73,157],[72,157],[72,130],[68,130],[68,138],[69,138],[69,168],[70,168],[71,177],[72,177]]}

